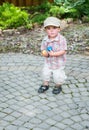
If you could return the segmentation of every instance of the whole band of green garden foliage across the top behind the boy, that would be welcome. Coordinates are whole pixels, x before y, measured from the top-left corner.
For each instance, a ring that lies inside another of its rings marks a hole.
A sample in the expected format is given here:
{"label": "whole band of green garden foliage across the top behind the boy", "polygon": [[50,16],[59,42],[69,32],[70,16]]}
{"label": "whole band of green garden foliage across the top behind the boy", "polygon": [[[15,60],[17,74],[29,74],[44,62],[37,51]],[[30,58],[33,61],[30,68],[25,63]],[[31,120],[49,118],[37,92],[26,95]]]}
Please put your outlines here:
{"label": "whole band of green garden foliage across the top behind the boy", "polygon": [[74,20],[85,17],[89,22],[89,0],[54,0],[53,3],[43,0],[41,5],[23,8],[4,3],[0,6],[0,28],[31,28],[34,23],[42,24],[48,16]]}

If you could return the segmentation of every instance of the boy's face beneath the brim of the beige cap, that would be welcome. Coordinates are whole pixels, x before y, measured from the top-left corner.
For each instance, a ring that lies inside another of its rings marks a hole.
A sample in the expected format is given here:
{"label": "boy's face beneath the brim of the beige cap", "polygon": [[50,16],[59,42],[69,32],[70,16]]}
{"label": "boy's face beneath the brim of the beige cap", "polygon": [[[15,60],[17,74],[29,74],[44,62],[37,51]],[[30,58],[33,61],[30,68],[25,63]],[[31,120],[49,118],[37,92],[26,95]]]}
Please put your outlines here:
{"label": "boy's face beneath the brim of the beige cap", "polygon": [[60,27],[47,26],[45,30],[49,38],[55,38],[60,32]]}

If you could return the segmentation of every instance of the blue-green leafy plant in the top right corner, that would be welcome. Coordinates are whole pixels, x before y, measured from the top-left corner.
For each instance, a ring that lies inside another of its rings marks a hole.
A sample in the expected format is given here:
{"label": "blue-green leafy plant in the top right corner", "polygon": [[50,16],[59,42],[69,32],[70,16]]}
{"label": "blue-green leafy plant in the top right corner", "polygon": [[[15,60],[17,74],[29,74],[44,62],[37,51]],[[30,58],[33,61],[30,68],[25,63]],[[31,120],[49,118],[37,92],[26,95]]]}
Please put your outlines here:
{"label": "blue-green leafy plant in the top right corner", "polygon": [[80,18],[89,16],[89,0],[54,0],[55,4],[65,8],[64,17]]}

